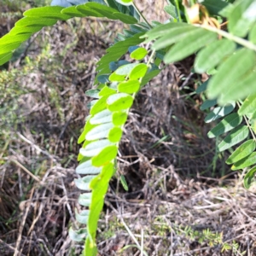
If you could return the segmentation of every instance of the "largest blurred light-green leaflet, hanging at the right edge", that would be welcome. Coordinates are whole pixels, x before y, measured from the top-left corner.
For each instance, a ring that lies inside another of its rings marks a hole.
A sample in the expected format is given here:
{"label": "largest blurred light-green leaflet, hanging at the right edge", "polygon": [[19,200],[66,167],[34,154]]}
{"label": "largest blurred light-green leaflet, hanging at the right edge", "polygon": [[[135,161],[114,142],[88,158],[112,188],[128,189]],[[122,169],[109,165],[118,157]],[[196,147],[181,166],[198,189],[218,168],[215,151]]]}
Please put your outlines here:
{"label": "largest blurred light-green leaflet, hanging at the right edge", "polygon": [[[208,96],[216,98],[223,93],[226,84],[232,85],[237,83],[242,75],[253,68],[255,59],[255,53],[251,49],[239,49],[233,55],[230,55],[226,61],[219,65],[218,73],[210,79],[207,88]],[[241,88],[236,86],[234,90],[236,90],[236,94],[239,96]]]}

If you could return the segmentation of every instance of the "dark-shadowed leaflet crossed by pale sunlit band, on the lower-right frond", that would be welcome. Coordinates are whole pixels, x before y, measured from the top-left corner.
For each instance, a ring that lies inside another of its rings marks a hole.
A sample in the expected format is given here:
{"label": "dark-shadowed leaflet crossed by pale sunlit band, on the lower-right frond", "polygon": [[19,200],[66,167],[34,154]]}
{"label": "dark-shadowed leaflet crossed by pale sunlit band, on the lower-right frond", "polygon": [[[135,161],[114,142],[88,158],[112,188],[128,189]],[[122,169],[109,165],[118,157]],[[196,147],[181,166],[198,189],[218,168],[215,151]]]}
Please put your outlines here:
{"label": "dark-shadowed leaflet crossed by pale sunlit band, on the lower-right frond", "polygon": [[212,130],[207,133],[207,136],[210,138],[217,137],[224,132],[236,128],[237,125],[241,124],[241,121],[242,117],[239,116],[238,113],[230,113],[230,115],[226,116],[218,123],[218,125],[212,128]]}

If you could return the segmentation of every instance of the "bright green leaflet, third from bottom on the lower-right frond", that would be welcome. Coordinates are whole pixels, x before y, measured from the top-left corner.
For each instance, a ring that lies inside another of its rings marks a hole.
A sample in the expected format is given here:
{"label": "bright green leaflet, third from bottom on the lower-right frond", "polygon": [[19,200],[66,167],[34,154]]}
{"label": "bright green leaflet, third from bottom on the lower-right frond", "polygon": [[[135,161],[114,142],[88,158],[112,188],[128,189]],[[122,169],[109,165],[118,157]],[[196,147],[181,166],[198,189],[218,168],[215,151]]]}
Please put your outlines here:
{"label": "bright green leaflet, third from bottom on the lower-right frond", "polygon": [[245,143],[242,143],[241,146],[236,148],[233,154],[226,160],[228,165],[236,163],[237,161],[247,157],[247,155],[253,153],[255,150],[256,143],[253,140],[248,140]]}

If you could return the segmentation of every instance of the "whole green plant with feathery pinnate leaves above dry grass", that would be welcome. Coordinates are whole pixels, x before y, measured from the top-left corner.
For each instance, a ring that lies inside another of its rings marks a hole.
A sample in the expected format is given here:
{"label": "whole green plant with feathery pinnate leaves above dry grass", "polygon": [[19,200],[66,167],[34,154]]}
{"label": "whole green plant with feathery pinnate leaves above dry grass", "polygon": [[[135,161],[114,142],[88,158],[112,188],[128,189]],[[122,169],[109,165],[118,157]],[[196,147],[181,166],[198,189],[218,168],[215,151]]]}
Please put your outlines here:
{"label": "whole green plant with feathery pinnate leaves above dry grass", "polygon": [[[77,220],[86,224],[86,228],[71,229],[69,233],[73,240],[85,240],[84,255],[96,255],[97,221],[109,180],[116,172],[115,159],[129,109],[137,92],[167,64],[195,54],[194,72],[210,76],[196,90],[207,94],[201,109],[211,111],[205,121],[223,118],[209,131],[208,137],[229,132],[218,144],[219,152],[231,151],[233,146],[246,140],[227,160],[233,164],[233,170],[256,163],[255,0],[168,0],[165,10],[170,20],[166,24],[149,23],[132,0],[53,3],[64,7],[30,9],[9,34],[0,39],[0,65],[9,61],[13,51],[32,33],[44,26],[53,26],[57,20],[95,16],[130,25],[97,63],[95,88],[86,92],[95,100],[88,106],[90,116],[79,137],[83,145],[76,172],[84,177],[75,180],[78,188],[86,191],[79,196],[79,203],[87,210],[76,212]],[[143,45],[149,42],[151,48],[146,49]],[[127,53],[129,57],[125,61],[123,57]],[[253,183],[255,172],[255,167],[247,172],[246,188]]]}

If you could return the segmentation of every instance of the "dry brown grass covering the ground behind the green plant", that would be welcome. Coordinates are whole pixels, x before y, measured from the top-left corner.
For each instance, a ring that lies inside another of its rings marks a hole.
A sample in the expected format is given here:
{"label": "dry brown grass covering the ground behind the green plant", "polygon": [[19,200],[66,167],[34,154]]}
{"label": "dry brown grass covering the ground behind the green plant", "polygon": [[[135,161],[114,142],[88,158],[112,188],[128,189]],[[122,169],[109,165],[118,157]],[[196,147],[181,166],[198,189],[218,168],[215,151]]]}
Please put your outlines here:
{"label": "dry brown grass covering the ground behind the green plant", "polygon": [[[115,27],[91,19],[45,29],[12,64],[19,72],[3,80],[1,255],[81,252],[67,235],[79,207],[76,141],[88,114],[84,91]],[[148,255],[256,255],[255,195],[207,138],[193,92],[201,78],[190,66],[170,66],[137,96],[99,224],[99,255],[143,255],[136,243]]]}

